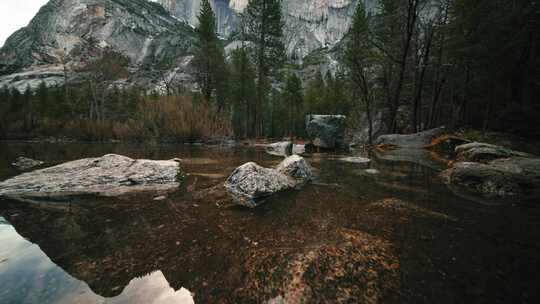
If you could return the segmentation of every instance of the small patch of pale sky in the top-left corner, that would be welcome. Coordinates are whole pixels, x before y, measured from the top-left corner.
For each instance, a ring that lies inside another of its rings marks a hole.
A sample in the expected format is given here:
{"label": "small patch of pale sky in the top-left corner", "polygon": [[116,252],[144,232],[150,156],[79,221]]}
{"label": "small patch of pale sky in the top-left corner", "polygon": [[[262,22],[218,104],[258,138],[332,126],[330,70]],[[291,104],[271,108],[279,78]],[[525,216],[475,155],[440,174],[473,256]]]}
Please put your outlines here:
{"label": "small patch of pale sky in the top-left corner", "polygon": [[47,0],[0,0],[0,46],[16,30],[24,27]]}

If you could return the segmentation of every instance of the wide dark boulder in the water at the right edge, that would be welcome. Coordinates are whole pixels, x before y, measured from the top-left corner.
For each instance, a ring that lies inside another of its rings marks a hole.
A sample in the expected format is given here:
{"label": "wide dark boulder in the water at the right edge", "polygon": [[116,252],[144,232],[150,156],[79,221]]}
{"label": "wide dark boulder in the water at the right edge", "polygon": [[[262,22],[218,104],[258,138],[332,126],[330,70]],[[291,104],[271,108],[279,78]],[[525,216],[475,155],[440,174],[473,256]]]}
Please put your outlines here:
{"label": "wide dark boulder in the water at the right edge", "polygon": [[459,162],[443,176],[454,190],[484,198],[526,200],[540,195],[539,158]]}

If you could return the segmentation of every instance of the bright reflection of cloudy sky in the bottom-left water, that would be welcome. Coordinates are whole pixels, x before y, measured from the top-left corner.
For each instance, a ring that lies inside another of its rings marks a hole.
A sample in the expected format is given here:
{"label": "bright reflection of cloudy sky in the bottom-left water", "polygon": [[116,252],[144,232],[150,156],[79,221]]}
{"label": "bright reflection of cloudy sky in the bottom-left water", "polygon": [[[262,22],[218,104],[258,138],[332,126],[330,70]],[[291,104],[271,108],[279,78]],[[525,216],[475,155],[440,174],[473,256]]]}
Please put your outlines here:
{"label": "bright reflection of cloudy sky in the bottom-left water", "polygon": [[189,291],[175,292],[161,271],[135,278],[120,295],[104,298],[54,264],[2,217],[0,244],[1,303],[193,303]]}

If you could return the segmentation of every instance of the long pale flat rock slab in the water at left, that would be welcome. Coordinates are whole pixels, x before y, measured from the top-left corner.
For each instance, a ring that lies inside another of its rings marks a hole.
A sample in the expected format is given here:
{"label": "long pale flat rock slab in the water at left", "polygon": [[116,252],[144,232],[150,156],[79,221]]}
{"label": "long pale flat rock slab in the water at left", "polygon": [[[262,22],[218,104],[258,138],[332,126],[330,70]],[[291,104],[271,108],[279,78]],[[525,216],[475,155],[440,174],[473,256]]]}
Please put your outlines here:
{"label": "long pale flat rock slab in the water at left", "polygon": [[32,199],[165,191],[179,186],[179,173],[180,164],[174,160],[134,160],[108,154],[18,175],[0,182],[0,196]]}

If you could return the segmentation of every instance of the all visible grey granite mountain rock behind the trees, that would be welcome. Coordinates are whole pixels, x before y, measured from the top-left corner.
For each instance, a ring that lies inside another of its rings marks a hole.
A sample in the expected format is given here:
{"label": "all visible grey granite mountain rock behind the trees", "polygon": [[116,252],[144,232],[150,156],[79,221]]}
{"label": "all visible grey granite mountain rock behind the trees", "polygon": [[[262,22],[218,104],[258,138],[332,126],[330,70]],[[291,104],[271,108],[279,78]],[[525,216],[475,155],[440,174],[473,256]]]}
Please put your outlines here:
{"label": "all visible grey granite mountain rock behind the trees", "polygon": [[[364,1],[368,10],[375,9],[376,0],[283,0],[289,56],[298,61],[306,56],[323,56],[323,69],[332,69],[335,60],[324,49],[330,50],[341,41],[358,1]],[[155,73],[148,71],[173,58],[178,67],[169,74],[189,78],[187,55],[194,39],[191,27],[197,25],[201,0],[157,2],[50,0],[28,26],[15,32],[0,49],[0,86],[22,91],[42,81],[47,85],[61,84],[64,63],[76,71],[105,48],[129,59],[132,78],[152,81]],[[218,32],[230,37],[248,0],[210,2]],[[176,77],[171,75],[166,78]]]}

